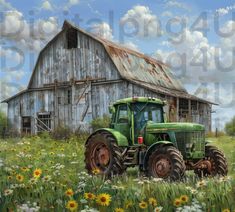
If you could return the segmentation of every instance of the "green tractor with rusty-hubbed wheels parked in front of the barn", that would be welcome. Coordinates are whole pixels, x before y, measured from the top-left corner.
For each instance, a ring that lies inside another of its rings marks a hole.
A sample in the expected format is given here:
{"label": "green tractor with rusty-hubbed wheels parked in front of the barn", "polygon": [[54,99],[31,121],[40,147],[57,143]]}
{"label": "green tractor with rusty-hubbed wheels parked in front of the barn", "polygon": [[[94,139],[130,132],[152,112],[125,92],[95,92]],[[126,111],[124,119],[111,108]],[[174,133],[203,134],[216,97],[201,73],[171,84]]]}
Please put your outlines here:
{"label": "green tractor with rusty-hubbed wheels parked in front of the barn", "polygon": [[180,180],[186,170],[199,177],[227,175],[224,154],[205,140],[205,128],[194,123],[165,123],[165,103],[156,98],[118,100],[109,110],[110,128],[99,129],[86,142],[88,173],[107,177],[139,166],[147,176]]}

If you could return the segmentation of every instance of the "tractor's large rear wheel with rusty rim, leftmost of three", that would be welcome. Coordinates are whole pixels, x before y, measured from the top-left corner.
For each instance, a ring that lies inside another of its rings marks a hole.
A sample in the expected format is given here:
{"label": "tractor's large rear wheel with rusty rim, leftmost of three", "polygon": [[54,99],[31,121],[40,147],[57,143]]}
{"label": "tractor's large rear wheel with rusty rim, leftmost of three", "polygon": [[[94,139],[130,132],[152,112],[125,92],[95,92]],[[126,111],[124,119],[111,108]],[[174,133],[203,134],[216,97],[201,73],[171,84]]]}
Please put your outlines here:
{"label": "tractor's large rear wheel with rusty rim, leftmost of three", "polygon": [[108,132],[97,132],[86,144],[85,164],[89,174],[102,174],[107,177],[125,171],[121,148]]}

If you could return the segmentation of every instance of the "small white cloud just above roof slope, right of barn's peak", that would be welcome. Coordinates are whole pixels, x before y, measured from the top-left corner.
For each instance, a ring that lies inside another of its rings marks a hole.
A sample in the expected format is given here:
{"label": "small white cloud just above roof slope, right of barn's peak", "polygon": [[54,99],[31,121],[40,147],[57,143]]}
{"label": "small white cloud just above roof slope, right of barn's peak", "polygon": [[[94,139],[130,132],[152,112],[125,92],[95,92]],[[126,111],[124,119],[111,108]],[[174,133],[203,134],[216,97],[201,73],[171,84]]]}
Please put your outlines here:
{"label": "small white cloud just above roof slope, right of barn's peak", "polygon": [[106,22],[93,24],[91,26],[91,32],[108,40],[113,39],[112,29]]}

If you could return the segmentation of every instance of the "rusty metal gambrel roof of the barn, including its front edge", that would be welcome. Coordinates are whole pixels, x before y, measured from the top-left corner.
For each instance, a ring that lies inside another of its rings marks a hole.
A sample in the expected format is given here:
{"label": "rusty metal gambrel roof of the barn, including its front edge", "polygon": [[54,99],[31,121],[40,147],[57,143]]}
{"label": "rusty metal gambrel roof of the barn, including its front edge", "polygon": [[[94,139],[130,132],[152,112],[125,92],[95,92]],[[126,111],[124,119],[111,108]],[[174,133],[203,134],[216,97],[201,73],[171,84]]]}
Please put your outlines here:
{"label": "rusty metal gambrel roof of the barn, including its front edge", "polygon": [[[161,61],[154,58],[146,56],[135,50],[126,48],[125,46],[114,43],[112,41],[100,38],[94,34],[86,32],[76,25],[65,21],[62,27],[62,31],[59,32],[40,52],[38,56],[38,61],[41,58],[42,52],[52,43],[64,30],[68,28],[74,28],[83,34],[97,40],[106,49],[108,55],[112,59],[114,65],[116,66],[121,77],[127,81],[137,84],[139,86],[145,87],[153,92],[158,92],[164,95],[175,96],[180,98],[197,100],[204,103],[214,104],[207,100],[198,98],[194,95],[187,93],[179,80],[177,80],[170,71],[170,67]],[[35,65],[34,71],[32,73],[28,89],[20,92],[19,94],[5,100],[8,102],[11,99],[21,95],[30,90],[30,84],[32,82],[34,72],[37,66]]]}

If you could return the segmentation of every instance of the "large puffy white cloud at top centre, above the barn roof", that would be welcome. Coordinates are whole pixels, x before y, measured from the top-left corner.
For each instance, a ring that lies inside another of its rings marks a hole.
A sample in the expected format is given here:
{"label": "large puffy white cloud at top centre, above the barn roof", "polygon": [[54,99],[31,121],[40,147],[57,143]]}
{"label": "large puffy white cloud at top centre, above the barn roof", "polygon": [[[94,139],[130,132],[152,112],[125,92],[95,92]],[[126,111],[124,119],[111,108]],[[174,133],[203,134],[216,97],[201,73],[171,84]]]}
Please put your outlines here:
{"label": "large puffy white cloud at top centre, above the barn roof", "polygon": [[157,16],[146,6],[137,5],[128,10],[121,18],[120,24],[123,28],[127,27],[125,31],[141,38],[157,37],[162,34]]}

